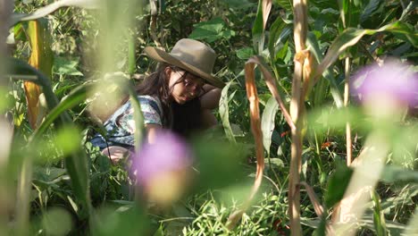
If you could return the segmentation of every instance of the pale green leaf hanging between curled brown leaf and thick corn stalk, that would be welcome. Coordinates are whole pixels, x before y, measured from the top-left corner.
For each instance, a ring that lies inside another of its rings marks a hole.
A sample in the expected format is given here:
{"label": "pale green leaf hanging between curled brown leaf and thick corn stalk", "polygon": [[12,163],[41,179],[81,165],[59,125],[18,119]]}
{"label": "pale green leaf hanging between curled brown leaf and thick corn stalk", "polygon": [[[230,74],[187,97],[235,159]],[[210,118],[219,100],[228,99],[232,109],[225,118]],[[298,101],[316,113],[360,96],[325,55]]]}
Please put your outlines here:
{"label": "pale green leaf hanging between curled brown leaf and thick corn stalk", "polygon": [[270,146],[272,145],[272,132],[274,131],[274,122],[276,114],[279,111],[279,104],[276,98],[270,97],[263,110],[262,116],[262,131],[263,131],[263,146],[267,151],[267,156],[270,156]]}

